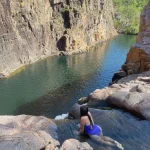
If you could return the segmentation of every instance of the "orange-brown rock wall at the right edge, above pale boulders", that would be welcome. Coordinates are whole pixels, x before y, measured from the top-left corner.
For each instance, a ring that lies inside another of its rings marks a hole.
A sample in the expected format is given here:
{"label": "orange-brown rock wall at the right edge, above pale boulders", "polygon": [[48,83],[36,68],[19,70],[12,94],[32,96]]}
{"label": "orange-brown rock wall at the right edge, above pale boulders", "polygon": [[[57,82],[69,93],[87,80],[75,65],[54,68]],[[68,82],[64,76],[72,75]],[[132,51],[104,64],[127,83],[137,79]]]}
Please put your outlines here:
{"label": "orange-brown rock wall at the right edge, above pale boulders", "polygon": [[140,31],[136,43],[131,47],[125,64],[117,72],[113,81],[130,74],[141,73],[150,69],[150,2],[144,8],[140,19]]}

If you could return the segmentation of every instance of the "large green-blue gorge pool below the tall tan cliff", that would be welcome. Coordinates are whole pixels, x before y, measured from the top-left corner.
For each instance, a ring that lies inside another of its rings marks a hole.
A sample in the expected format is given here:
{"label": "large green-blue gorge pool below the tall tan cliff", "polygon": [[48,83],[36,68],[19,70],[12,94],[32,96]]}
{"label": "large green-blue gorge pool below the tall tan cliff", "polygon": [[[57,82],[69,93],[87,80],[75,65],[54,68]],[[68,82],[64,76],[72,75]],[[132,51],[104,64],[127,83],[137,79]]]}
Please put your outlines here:
{"label": "large green-blue gorge pool below the tall tan cliff", "polygon": [[87,53],[54,56],[0,80],[0,115],[66,113],[80,97],[111,82],[135,36],[119,35]]}

